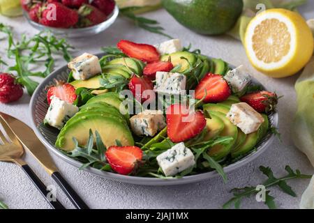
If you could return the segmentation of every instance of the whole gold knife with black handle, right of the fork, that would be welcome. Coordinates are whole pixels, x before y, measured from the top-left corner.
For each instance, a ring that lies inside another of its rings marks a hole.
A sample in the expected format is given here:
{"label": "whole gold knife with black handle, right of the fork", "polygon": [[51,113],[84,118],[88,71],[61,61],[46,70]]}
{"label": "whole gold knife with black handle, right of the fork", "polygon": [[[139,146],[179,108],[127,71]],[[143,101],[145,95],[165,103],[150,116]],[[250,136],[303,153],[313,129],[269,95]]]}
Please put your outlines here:
{"label": "whole gold knife with black handle, right of the fork", "polygon": [[48,153],[45,146],[36,137],[35,132],[29,126],[22,121],[0,112],[0,116],[8,124],[10,129],[14,132],[17,139],[20,140],[24,148],[38,160],[40,165],[44,167],[45,171],[52,176],[56,183],[61,187],[63,192],[73,205],[78,209],[89,209],[86,203],[80,198],[80,196],[73,190],[73,188],[66,182],[63,176],[59,173],[56,165],[54,164],[52,157]]}

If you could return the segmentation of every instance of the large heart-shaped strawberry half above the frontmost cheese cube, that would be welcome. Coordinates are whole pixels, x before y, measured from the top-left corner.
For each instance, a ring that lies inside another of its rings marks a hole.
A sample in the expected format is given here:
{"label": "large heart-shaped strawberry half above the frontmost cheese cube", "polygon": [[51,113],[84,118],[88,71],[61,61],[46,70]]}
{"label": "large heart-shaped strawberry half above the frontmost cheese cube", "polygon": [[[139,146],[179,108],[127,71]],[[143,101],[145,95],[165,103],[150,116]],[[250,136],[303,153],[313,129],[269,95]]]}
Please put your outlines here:
{"label": "large heart-shaped strawberry half above the frontmost cheese cube", "polygon": [[167,108],[167,134],[173,142],[186,141],[200,134],[206,126],[204,114],[191,111],[186,105]]}

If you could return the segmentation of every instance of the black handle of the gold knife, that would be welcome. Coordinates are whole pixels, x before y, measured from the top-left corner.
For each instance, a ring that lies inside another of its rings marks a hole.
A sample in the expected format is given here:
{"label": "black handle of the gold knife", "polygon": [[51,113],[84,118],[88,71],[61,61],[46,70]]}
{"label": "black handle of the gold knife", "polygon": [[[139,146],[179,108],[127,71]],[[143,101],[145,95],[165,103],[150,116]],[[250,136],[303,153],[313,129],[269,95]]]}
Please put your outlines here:
{"label": "black handle of the gold knife", "polygon": [[68,182],[66,182],[66,180],[58,171],[54,172],[51,176],[61,187],[63,192],[66,193],[68,199],[70,199],[77,209],[89,209],[89,206],[87,206],[87,204],[80,198],[77,192],[73,190],[73,188],[68,184]]}

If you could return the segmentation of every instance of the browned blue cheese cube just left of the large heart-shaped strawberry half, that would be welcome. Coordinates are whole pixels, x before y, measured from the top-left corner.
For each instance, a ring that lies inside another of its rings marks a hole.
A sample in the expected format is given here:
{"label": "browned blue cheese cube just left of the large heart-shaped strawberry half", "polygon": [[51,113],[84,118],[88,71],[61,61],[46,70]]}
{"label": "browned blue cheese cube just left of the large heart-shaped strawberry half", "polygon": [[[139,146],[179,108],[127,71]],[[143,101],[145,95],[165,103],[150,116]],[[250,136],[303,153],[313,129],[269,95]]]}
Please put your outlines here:
{"label": "browned blue cheese cube just left of the large heart-shaped strawberry half", "polygon": [[130,126],[135,134],[152,137],[165,128],[166,123],[163,112],[145,110],[130,118]]}

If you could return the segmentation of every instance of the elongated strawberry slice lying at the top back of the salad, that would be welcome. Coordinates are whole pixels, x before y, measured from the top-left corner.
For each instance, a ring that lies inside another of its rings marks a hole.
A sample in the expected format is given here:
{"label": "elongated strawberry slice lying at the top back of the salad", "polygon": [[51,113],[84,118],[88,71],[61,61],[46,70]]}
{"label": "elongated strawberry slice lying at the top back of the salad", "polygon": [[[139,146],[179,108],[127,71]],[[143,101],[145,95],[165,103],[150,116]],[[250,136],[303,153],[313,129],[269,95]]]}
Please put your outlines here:
{"label": "elongated strawberry slice lying at the top back of the salad", "polygon": [[156,47],[152,45],[133,43],[129,40],[120,40],[117,47],[124,52],[124,54],[147,63],[158,61],[160,58]]}

